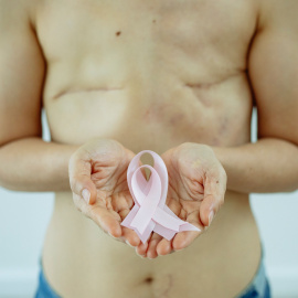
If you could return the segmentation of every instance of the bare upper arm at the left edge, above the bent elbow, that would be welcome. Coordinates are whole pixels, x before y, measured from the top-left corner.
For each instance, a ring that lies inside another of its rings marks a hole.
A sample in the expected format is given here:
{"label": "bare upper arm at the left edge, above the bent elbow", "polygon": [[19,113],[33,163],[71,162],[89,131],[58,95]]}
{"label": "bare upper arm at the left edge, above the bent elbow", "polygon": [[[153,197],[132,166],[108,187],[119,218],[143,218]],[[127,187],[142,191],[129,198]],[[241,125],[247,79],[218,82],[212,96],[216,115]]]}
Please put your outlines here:
{"label": "bare upper arm at the left edge, above the bent elbow", "polygon": [[45,63],[32,23],[32,4],[0,0],[0,127],[9,127],[0,129],[0,146],[41,136]]}

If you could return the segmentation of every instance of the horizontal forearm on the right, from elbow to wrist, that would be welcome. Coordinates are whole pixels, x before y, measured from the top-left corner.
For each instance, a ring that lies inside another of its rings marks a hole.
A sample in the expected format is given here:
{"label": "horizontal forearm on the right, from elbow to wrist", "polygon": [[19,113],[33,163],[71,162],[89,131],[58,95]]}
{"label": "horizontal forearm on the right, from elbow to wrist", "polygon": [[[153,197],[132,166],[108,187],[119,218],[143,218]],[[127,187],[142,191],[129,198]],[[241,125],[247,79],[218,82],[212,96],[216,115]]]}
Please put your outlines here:
{"label": "horizontal forearm on the right, from elbow to wrist", "polygon": [[298,189],[298,147],[260,139],[234,148],[212,148],[227,174],[227,189],[238,192],[286,192]]}

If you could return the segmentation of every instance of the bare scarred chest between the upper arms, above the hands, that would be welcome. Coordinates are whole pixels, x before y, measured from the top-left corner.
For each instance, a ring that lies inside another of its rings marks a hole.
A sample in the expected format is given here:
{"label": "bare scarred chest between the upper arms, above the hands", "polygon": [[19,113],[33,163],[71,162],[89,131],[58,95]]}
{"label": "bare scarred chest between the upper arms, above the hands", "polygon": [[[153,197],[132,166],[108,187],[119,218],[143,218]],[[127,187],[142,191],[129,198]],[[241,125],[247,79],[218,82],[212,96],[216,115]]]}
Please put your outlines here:
{"label": "bare scarred chest between the upper arms, above the hands", "polygon": [[248,139],[247,2],[45,1],[38,19],[54,140],[162,150]]}

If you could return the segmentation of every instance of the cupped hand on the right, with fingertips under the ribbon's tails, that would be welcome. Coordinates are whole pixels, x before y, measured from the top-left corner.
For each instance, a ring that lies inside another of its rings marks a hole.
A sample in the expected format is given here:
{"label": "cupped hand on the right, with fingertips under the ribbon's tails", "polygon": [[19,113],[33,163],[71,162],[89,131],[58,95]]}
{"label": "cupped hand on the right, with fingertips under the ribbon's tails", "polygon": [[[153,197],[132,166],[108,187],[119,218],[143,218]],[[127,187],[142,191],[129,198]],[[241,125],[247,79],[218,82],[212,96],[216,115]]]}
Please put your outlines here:
{"label": "cupped hand on the right, with fingertips under the ribbon's tails", "polygon": [[136,248],[137,254],[149,258],[188,247],[211,224],[226,190],[226,173],[211,147],[185,142],[161,157],[169,174],[167,205],[200,232],[179,232],[171,241],[152,233]]}

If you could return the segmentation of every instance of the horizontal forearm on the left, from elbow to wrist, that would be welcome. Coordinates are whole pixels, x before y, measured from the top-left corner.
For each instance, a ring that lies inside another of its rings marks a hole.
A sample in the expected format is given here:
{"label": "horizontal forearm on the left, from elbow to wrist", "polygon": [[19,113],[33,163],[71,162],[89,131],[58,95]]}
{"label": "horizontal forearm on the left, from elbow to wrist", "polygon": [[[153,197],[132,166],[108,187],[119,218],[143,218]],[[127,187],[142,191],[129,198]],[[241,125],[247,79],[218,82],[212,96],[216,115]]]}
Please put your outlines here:
{"label": "horizontal forearm on the left, from elbow to wrist", "polygon": [[68,160],[78,146],[40,138],[0,148],[0,185],[15,191],[70,191]]}

